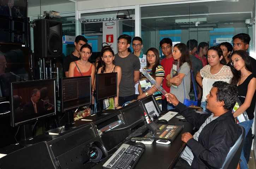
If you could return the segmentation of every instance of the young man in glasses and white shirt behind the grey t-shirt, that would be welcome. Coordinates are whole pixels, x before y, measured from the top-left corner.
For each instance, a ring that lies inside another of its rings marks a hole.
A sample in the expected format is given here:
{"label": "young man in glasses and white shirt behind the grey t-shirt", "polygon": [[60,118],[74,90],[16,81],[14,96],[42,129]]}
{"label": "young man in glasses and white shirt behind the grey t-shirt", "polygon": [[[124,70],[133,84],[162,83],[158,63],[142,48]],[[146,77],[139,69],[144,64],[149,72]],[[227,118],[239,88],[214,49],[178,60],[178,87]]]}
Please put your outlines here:
{"label": "young man in glasses and white shirt behind the grey t-shirt", "polygon": [[[133,54],[139,58],[139,62],[141,63],[141,68],[144,69],[144,67],[146,67],[146,65],[147,65],[147,62],[146,62],[147,57],[146,57],[146,55],[143,55],[143,53],[141,52],[142,47],[143,47],[142,39],[138,36],[134,37],[132,39]],[[136,98],[139,95],[138,84],[139,83],[135,84]]]}

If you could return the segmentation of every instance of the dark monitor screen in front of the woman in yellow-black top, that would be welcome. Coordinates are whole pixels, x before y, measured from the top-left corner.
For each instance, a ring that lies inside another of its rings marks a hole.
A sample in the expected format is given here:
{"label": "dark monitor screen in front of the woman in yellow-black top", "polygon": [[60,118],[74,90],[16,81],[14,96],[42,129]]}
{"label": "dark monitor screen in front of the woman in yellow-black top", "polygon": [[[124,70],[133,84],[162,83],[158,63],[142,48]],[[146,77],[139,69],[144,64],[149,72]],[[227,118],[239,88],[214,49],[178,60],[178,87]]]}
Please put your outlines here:
{"label": "dark monitor screen in front of the woman in yellow-black top", "polygon": [[96,74],[96,101],[117,96],[117,73]]}

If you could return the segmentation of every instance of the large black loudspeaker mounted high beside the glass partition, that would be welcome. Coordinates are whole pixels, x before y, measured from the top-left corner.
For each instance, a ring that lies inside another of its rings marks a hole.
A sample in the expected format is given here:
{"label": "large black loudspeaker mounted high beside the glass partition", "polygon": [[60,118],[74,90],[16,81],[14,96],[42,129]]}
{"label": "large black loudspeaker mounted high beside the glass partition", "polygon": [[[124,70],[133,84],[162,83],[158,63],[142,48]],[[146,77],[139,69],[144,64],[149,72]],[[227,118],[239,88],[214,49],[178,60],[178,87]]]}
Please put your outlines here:
{"label": "large black loudspeaker mounted high beside the glass partition", "polygon": [[37,58],[62,57],[62,23],[40,19],[34,26],[34,52]]}

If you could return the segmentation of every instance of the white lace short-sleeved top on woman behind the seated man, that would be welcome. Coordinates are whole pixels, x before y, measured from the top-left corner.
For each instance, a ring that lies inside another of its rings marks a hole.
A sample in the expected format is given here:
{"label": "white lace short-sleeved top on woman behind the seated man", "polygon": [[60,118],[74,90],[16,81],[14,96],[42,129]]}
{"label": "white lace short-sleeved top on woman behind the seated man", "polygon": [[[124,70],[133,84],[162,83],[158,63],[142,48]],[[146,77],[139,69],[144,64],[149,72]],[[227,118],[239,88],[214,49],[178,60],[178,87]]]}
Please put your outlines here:
{"label": "white lace short-sleeved top on woman behind the seated man", "polygon": [[224,81],[230,83],[233,74],[230,67],[224,65],[218,73],[212,75],[210,73],[210,65],[206,65],[200,70],[200,74],[203,77],[203,98],[202,101],[206,101],[206,96],[210,93],[210,90],[213,87],[213,83],[216,81]]}

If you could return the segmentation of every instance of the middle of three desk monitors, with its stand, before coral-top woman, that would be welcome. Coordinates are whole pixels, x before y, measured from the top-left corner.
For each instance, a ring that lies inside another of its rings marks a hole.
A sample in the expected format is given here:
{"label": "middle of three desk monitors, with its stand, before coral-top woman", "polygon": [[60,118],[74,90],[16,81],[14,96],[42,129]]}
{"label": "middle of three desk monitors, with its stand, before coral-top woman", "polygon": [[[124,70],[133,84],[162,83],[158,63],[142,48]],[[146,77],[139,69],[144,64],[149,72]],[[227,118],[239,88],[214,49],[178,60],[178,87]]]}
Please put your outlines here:
{"label": "middle of three desk monitors, with its stand, before coral-top woman", "polygon": [[91,76],[64,77],[60,80],[60,108],[65,112],[65,127],[72,128],[73,109],[91,104]]}

